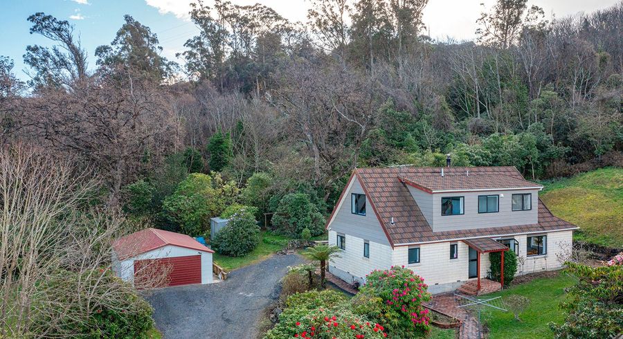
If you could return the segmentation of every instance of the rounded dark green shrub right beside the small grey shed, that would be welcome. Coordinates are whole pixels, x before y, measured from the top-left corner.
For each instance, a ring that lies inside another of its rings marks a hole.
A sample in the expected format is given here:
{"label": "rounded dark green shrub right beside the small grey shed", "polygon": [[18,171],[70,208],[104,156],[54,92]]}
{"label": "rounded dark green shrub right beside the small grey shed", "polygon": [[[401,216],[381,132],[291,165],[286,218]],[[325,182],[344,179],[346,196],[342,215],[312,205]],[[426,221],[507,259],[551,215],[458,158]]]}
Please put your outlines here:
{"label": "rounded dark green shrub right beside the small grey shed", "polygon": [[251,252],[260,243],[260,226],[253,219],[253,214],[233,214],[227,226],[220,230],[212,240],[218,253],[242,257]]}

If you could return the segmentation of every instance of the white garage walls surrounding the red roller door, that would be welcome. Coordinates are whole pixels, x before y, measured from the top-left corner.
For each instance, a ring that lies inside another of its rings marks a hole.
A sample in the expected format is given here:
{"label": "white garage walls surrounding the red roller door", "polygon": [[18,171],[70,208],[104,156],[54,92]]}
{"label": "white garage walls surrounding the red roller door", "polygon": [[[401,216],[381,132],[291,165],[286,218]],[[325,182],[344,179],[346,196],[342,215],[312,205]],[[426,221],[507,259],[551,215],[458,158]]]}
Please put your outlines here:
{"label": "white garage walls surrounding the red roller door", "polygon": [[113,270],[121,279],[127,282],[134,282],[134,260],[159,259],[163,257],[186,257],[188,255],[199,254],[201,255],[201,284],[211,284],[213,282],[212,253],[172,245],[150,250],[147,253],[136,255],[136,257],[132,257],[131,259],[126,259],[121,262],[116,261],[116,256],[113,255]]}

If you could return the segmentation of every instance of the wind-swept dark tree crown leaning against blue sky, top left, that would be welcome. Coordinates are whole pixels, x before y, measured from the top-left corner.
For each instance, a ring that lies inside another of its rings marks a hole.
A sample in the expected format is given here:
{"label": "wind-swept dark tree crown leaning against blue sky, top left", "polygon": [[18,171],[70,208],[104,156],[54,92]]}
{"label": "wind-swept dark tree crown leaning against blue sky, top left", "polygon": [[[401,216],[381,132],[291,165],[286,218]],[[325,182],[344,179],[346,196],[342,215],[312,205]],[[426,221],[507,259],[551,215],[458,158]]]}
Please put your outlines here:
{"label": "wind-swept dark tree crown leaning against blue sky, top left", "polygon": [[70,88],[87,77],[87,52],[75,39],[73,25],[44,12],[30,15],[28,21],[33,24],[30,34],[40,34],[57,44],[52,48],[38,45],[26,47],[24,63],[35,72],[30,75],[30,86],[35,89]]}

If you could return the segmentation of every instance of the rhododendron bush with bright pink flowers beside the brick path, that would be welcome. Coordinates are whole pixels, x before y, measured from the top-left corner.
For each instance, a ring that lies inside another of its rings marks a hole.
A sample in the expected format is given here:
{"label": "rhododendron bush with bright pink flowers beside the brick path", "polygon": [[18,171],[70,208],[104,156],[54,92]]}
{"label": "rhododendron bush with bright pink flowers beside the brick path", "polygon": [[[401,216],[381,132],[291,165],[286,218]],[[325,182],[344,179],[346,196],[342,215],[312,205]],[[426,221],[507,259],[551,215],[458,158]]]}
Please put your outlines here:
{"label": "rhododendron bush with bright pink flowers beside the brick path", "polygon": [[427,288],[424,278],[408,268],[375,270],[359,289],[354,308],[386,327],[392,336],[413,338],[431,328],[428,310],[422,306],[431,300]]}

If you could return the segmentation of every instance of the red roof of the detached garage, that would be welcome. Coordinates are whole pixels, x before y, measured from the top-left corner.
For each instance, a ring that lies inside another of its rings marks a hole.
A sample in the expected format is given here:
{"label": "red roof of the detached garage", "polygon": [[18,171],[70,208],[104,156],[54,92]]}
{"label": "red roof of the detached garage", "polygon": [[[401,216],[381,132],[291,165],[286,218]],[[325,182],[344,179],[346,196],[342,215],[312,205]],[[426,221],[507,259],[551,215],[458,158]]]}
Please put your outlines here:
{"label": "red roof of the detached garage", "polygon": [[213,250],[199,244],[197,240],[192,239],[188,235],[158,230],[156,228],[146,228],[131,235],[120,237],[113,243],[113,248],[118,257],[123,260],[167,245],[214,253]]}

